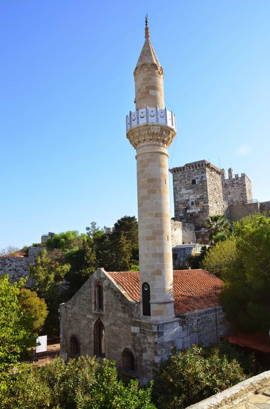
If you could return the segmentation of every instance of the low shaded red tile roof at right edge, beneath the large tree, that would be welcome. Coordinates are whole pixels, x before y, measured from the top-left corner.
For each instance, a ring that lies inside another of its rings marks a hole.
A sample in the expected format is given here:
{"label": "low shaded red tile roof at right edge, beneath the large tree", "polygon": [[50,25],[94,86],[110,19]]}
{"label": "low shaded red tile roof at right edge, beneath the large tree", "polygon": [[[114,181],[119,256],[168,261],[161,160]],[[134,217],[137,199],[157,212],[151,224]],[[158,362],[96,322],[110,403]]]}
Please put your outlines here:
{"label": "low shaded red tile roof at right edge, beneath the large tree", "polygon": [[263,333],[233,333],[221,337],[232,344],[254,349],[264,353],[270,352],[270,339],[268,334]]}

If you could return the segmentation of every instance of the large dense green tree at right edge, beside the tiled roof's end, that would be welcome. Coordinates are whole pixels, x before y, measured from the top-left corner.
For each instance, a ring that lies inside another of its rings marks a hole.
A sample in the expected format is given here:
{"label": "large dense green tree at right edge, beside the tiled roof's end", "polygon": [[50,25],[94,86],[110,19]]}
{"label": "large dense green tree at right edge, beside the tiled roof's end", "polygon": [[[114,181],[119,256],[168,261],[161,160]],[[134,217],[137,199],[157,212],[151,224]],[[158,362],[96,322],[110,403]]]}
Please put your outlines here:
{"label": "large dense green tree at right edge, beside the tiled roof's end", "polygon": [[[238,263],[224,268],[219,301],[244,330],[270,327],[270,219],[255,214],[235,223]],[[225,242],[226,243],[226,242]]]}

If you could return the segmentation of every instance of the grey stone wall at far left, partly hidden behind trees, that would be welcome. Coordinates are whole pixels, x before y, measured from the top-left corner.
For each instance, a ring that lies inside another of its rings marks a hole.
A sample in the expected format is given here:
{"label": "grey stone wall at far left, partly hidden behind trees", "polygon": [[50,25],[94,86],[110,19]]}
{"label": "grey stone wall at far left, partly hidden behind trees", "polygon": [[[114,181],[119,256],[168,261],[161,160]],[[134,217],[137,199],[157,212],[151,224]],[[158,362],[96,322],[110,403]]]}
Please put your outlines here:
{"label": "grey stone wall at far left, partly hidden behind trees", "polygon": [[36,256],[45,247],[30,247],[28,257],[0,257],[0,276],[9,274],[11,283],[28,276],[26,285],[33,288],[35,280],[29,276],[29,263],[35,264]]}

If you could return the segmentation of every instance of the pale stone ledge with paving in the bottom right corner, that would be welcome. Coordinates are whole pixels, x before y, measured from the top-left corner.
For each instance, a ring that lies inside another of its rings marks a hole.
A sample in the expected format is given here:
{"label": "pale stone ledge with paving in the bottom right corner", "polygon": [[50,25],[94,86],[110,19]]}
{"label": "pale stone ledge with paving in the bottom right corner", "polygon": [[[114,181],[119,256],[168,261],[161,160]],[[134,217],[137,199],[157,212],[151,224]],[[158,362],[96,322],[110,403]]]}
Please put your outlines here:
{"label": "pale stone ledge with paving in the bottom right corner", "polygon": [[[241,402],[248,400],[254,393],[258,393],[263,387],[270,385],[270,371],[259,373],[243,382],[225,389],[210,398],[201,400],[186,409],[216,409],[222,407],[227,409],[240,405]],[[235,402],[234,402],[235,401]]]}

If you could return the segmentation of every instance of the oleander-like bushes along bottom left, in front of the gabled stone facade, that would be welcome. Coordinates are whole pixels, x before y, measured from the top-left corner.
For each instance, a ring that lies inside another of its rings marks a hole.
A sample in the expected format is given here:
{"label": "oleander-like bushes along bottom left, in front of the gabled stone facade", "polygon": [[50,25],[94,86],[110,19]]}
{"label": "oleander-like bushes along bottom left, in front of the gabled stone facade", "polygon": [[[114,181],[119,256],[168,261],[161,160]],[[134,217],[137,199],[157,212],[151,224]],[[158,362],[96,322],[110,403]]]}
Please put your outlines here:
{"label": "oleander-like bushes along bottom left, in front of the gabled stone facade", "polygon": [[100,366],[85,356],[64,363],[58,357],[41,367],[22,365],[2,396],[2,409],[155,409],[150,398],[151,387],[117,380],[115,362]]}

